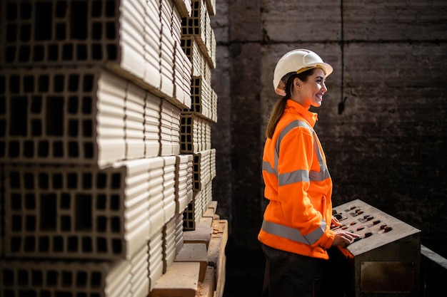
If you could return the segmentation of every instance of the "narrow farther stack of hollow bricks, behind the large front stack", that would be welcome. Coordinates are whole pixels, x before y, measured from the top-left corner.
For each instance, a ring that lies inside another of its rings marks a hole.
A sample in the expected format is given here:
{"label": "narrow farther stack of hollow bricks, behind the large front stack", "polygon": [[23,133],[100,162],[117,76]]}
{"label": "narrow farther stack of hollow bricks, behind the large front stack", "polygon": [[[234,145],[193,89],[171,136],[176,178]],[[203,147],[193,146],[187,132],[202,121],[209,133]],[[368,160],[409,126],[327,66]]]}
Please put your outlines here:
{"label": "narrow farther stack of hollow bricks, behind the large front stack", "polygon": [[211,202],[216,150],[211,123],[217,121],[217,96],[211,88],[216,67],[216,38],[211,28],[215,1],[192,1],[191,15],[182,19],[181,46],[191,62],[191,108],[181,113],[181,151],[194,155],[194,197],[184,212],[184,226],[194,230]]}

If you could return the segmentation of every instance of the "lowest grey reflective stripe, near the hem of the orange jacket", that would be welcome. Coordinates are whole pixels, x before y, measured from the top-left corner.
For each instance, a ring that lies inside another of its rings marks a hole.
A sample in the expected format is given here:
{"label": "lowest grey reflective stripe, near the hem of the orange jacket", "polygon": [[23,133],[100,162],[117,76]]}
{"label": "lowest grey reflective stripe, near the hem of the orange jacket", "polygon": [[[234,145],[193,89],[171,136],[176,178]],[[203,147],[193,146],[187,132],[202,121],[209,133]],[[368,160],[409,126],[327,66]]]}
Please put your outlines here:
{"label": "lowest grey reflective stripe, near the hem of the orange jacket", "polygon": [[307,234],[306,236],[303,236],[298,229],[294,229],[292,227],[284,226],[281,224],[268,222],[265,219],[262,222],[262,229],[263,231],[266,231],[267,233],[276,236],[291,239],[301,244],[311,245],[316,243],[316,241],[318,241],[318,239],[320,239],[321,236],[323,236],[324,231],[326,230],[326,222],[324,222],[324,220],[321,219],[320,227],[312,231],[310,234]]}

